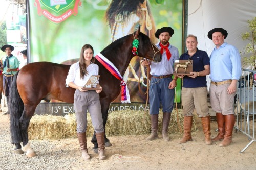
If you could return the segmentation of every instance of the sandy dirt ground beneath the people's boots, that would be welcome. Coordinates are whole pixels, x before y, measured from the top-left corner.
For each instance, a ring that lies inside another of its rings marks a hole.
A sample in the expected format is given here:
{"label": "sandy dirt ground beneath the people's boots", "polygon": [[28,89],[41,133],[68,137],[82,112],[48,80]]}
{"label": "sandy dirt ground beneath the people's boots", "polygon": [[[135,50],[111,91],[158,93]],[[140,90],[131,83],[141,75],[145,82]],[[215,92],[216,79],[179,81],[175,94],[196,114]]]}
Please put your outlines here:
{"label": "sandy dirt ground beneath the people's boots", "polygon": [[[146,141],[147,135],[137,136],[109,136],[112,147],[105,149],[107,160],[99,160],[93,153],[93,144],[88,138],[89,154],[91,160],[81,158],[77,139],[63,139],[47,141],[54,145],[51,149],[51,159],[70,159],[71,169],[256,169],[256,143],[252,143],[243,153],[240,151],[249,143],[248,137],[243,133],[233,131],[233,142],[229,147],[219,147],[220,142],[208,146],[204,144],[204,134],[201,120],[198,119],[198,132],[192,134],[193,141],[178,144],[182,135],[170,135],[171,140],[166,142],[161,138]],[[215,129],[217,122],[211,122],[211,137],[217,135]],[[1,133],[9,134],[9,115],[0,113]],[[35,150],[36,157],[45,152],[40,152],[38,143],[46,141],[30,141]],[[9,142],[10,143],[10,142]],[[35,143],[35,144],[33,144]],[[37,144],[36,144],[37,143]],[[11,146],[11,144],[10,144]],[[10,147],[11,148],[11,147]],[[13,149],[13,147],[12,147]],[[54,152],[55,150],[55,152]],[[58,150],[65,152],[65,156],[58,155]],[[5,154],[2,151],[0,154]],[[16,159],[28,160],[23,154]],[[31,168],[31,167],[30,167]],[[2,168],[1,168],[2,169]],[[35,169],[32,167],[32,169]],[[40,169],[40,168],[38,168]],[[51,168],[49,168],[51,169]],[[52,168],[54,169],[54,167]],[[57,168],[59,169],[59,168]]]}

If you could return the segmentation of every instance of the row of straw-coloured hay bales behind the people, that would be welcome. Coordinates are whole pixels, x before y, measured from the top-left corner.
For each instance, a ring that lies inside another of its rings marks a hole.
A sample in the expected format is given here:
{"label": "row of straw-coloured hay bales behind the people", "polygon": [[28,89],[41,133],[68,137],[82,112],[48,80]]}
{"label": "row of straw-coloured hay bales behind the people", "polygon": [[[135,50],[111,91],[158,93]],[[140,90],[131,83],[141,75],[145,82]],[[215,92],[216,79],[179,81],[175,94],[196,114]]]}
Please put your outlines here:
{"label": "row of straw-coloured hay bales behind the people", "polygon": [[[178,116],[177,116],[178,111]],[[169,134],[183,133],[184,116],[181,114],[181,109],[174,109],[170,124],[168,127]],[[196,117],[193,118],[192,131],[197,131]],[[162,111],[159,112],[158,132],[162,131]],[[94,128],[90,114],[87,116],[87,136],[92,136]],[[148,113],[144,111],[113,111],[108,115],[108,122],[105,129],[107,136],[112,135],[144,135],[151,133],[151,120]],[[30,140],[37,139],[63,139],[76,137],[76,118],[75,114],[68,114],[65,117],[53,115],[35,115],[30,121],[28,128]]]}

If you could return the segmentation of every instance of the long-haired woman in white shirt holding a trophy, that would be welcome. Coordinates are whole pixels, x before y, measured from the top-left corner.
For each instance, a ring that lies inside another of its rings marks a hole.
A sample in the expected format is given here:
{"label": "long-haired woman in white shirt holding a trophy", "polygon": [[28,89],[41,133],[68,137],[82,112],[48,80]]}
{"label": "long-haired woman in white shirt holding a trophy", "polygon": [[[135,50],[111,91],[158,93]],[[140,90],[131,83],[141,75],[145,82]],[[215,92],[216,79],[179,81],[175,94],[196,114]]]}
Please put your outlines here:
{"label": "long-haired woman in white shirt holding a trophy", "polygon": [[102,91],[102,87],[97,84],[97,87],[100,87],[100,90],[82,89],[92,75],[98,75],[99,73],[99,66],[93,63],[93,52],[93,47],[91,45],[83,45],[79,62],[71,65],[66,79],[66,86],[76,89],[74,94],[74,109],[77,122],[76,130],[82,158],[86,160],[91,158],[88,154],[86,140],[87,110],[90,113],[94,131],[96,132],[99,159],[106,159],[104,128],[98,94]]}

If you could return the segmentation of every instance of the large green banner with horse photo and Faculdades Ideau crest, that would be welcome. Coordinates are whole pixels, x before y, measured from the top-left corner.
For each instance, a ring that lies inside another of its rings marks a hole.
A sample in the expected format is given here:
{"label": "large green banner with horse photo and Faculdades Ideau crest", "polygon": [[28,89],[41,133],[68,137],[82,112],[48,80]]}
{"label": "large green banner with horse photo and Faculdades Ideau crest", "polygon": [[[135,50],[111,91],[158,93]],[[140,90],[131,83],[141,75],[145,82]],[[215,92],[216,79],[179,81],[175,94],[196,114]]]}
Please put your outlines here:
{"label": "large green banner with horse photo and Faculdades Ideau crest", "polygon": [[[79,61],[84,44],[91,44],[96,56],[115,40],[138,30],[139,26],[140,32],[150,37],[154,44],[158,42],[154,35],[157,29],[172,27],[175,33],[169,42],[182,54],[183,5],[183,0],[27,1],[30,62],[71,65]],[[140,69],[139,57],[131,60],[122,75],[131,103],[138,105],[146,102],[143,93],[149,80],[148,70]],[[139,91],[139,86],[143,93]],[[178,103],[181,101],[180,93],[181,81],[178,80]],[[112,103],[120,103],[120,100],[121,93]]]}

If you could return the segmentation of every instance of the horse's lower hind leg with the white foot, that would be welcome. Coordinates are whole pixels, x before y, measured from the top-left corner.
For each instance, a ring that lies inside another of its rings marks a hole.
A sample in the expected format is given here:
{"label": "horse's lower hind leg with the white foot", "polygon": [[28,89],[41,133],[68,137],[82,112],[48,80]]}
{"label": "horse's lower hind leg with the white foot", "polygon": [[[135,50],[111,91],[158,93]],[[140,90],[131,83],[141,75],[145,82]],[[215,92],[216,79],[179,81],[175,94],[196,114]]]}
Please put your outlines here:
{"label": "horse's lower hind leg with the white foot", "polygon": [[26,151],[26,156],[28,158],[35,156],[35,152],[30,147],[29,138],[28,138],[28,126],[34,112],[35,112],[35,107],[28,109],[26,108],[26,105],[25,105],[22,117],[20,117],[19,119],[20,129],[22,131],[22,144],[23,144],[22,150]]}

